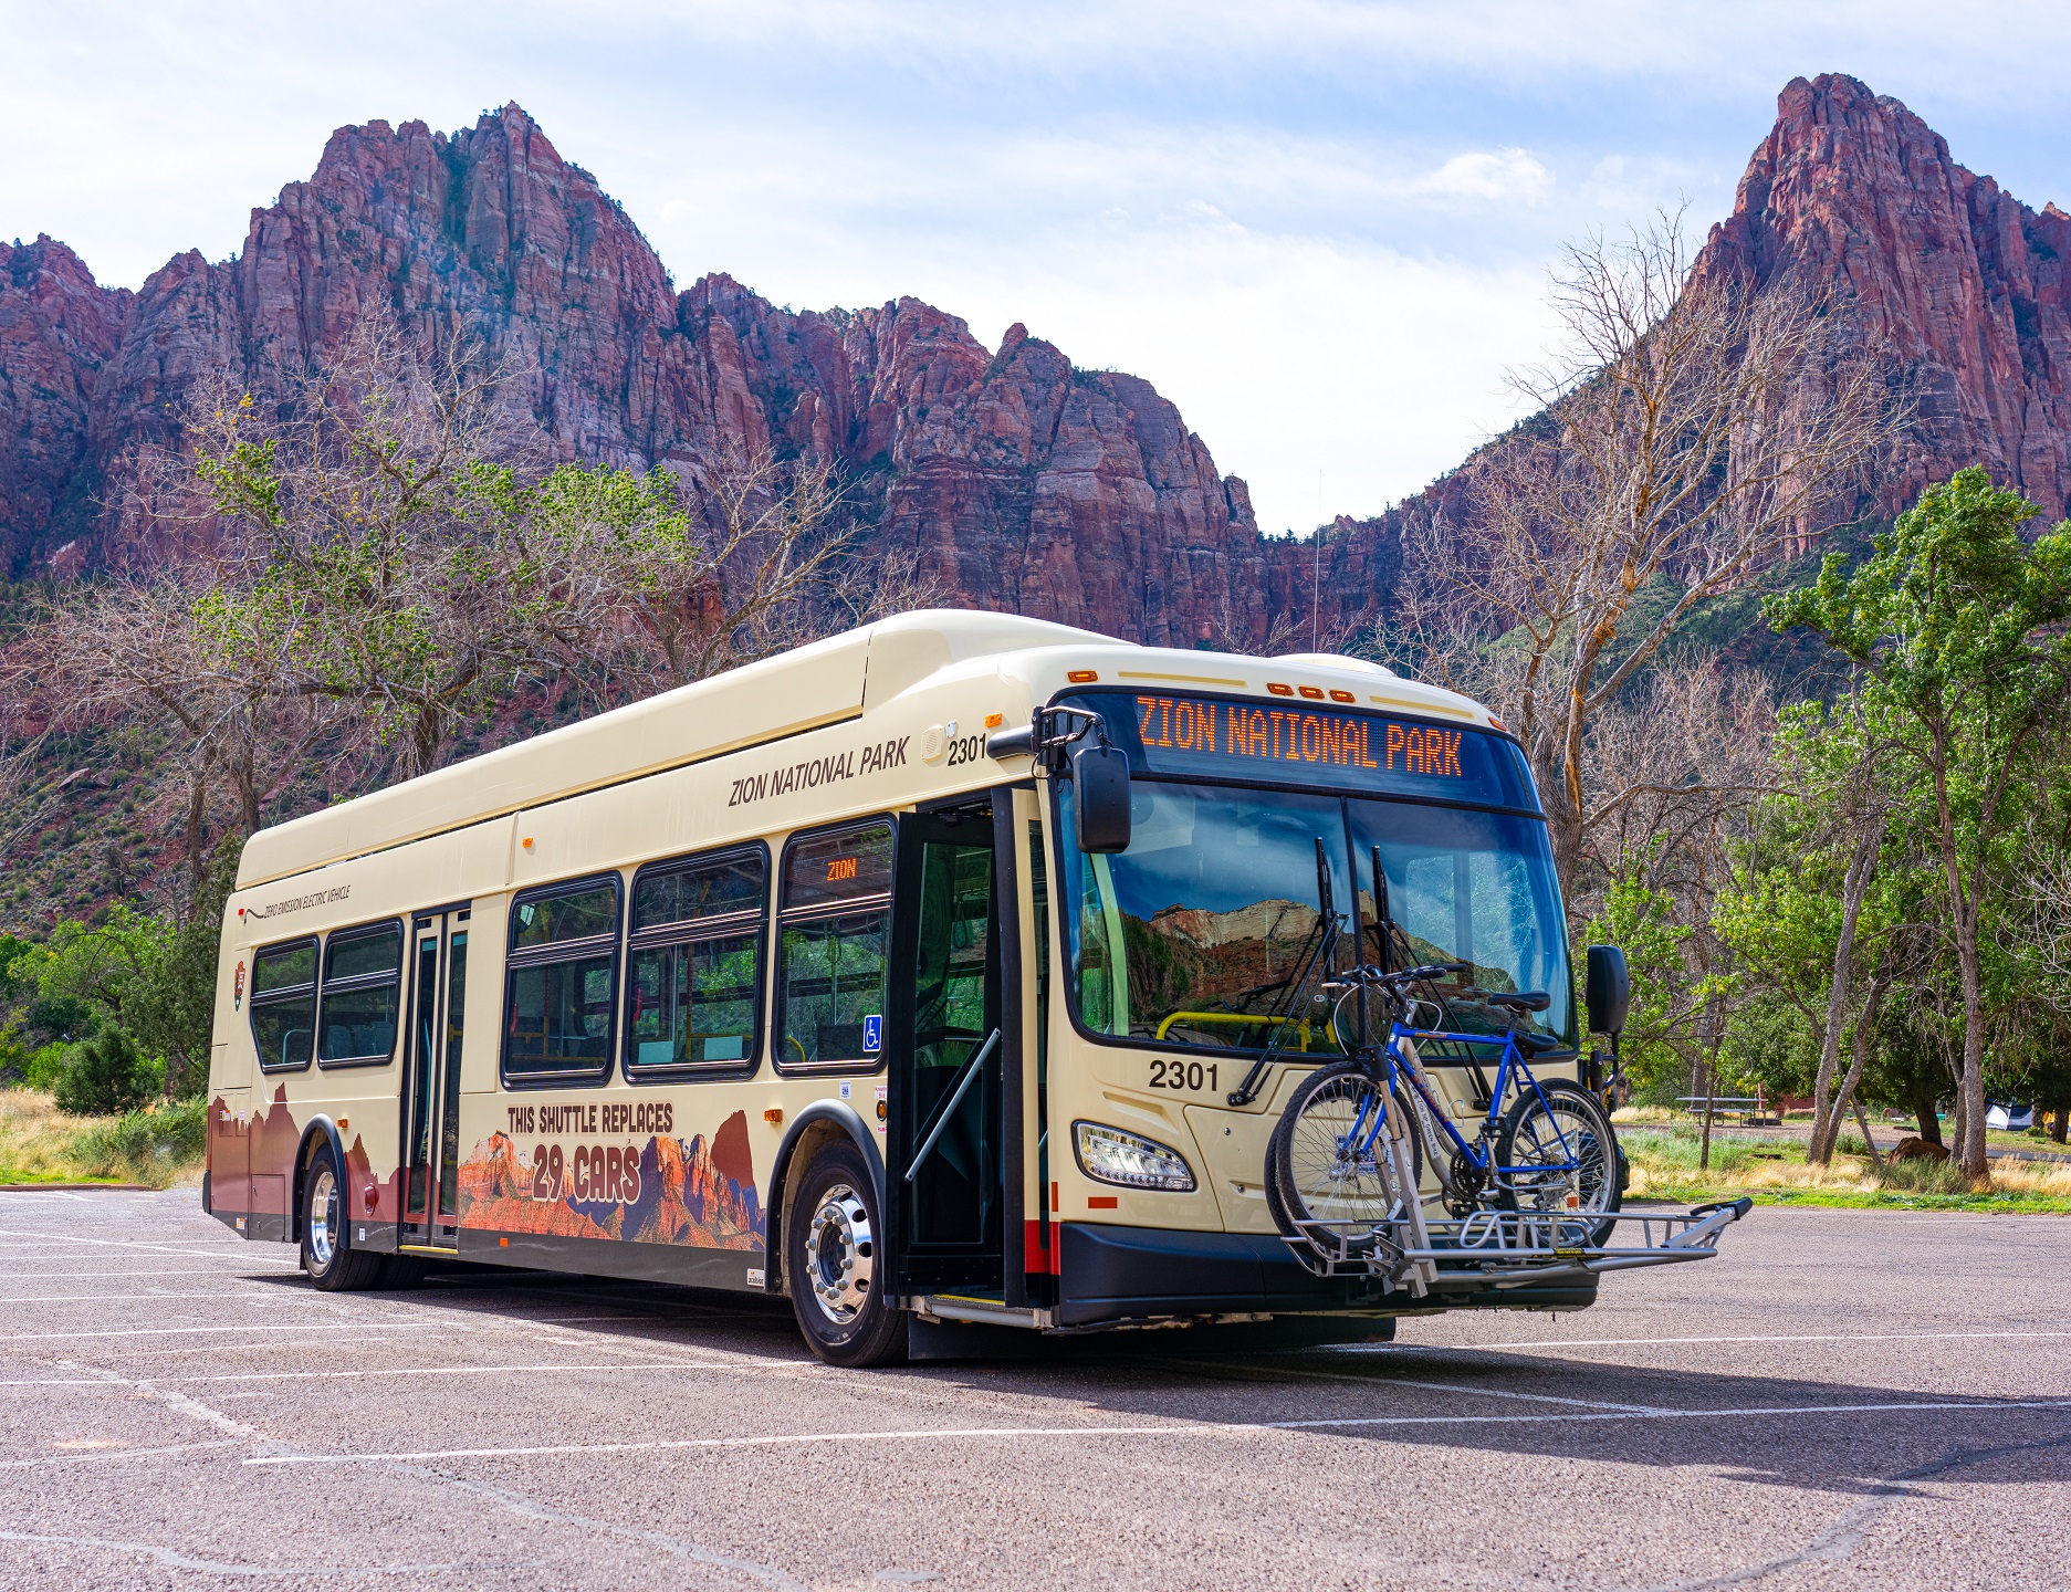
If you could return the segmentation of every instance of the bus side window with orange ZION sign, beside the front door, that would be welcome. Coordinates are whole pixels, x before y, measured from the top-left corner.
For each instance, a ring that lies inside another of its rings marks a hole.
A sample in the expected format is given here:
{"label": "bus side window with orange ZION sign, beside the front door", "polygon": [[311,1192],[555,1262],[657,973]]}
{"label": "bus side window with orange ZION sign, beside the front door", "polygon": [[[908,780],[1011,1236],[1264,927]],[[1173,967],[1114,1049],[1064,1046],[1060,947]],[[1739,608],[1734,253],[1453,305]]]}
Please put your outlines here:
{"label": "bus side window with orange ZION sign, beside the front door", "polygon": [[891,927],[891,824],[791,841],[783,865],[777,1066],[882,1064]]}

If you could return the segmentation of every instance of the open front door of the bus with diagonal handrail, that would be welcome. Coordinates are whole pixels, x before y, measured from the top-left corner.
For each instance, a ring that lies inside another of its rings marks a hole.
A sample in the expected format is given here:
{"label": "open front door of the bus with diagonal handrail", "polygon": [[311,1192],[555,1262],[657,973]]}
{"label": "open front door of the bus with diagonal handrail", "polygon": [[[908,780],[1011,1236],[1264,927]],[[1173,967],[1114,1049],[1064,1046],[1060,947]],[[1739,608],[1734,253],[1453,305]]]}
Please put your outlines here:
{"label": "open front door of the bus with diagonal handrail", "polygon": [[1002,1286],[1011,1060],[990,803],[909,814],[897,855],[886,1182],[901,1292],[990,1292]]}

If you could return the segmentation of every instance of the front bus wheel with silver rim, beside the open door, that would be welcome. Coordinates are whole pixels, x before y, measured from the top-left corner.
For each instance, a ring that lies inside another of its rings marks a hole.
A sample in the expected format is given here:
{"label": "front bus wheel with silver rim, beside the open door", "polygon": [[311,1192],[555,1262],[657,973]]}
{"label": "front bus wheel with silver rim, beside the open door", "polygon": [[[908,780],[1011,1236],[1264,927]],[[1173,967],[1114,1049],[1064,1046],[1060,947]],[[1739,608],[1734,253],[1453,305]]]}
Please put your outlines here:
{"label": "front bus wheel with silver rim, beside the open door", "polygon": [[876,1180],[845,1139],[814,1151],[783,1232],[791,1313],[830,1366],[905,1356],[907,1321],[891,1290],[891,1255]]}

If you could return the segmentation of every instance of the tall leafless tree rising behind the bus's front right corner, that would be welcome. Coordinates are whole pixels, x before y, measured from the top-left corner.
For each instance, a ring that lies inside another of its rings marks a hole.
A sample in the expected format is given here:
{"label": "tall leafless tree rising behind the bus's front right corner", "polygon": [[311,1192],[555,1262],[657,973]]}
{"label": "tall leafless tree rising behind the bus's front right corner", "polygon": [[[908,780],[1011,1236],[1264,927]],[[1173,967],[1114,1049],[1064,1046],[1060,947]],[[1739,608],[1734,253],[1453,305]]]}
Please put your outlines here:
{"label": "tall leafless tree rising behind the bus's front right corner", "polygon": [[1408,619],[1524,741],[1566,886],[1601,822],[1591,720],[1698,602],[1854,518],[1899,416],[1789,279],[1692,275],[1678,217],[1574,246],[1553,302],[1568,356],[1514,379],[1541,412],[1464,468]]}

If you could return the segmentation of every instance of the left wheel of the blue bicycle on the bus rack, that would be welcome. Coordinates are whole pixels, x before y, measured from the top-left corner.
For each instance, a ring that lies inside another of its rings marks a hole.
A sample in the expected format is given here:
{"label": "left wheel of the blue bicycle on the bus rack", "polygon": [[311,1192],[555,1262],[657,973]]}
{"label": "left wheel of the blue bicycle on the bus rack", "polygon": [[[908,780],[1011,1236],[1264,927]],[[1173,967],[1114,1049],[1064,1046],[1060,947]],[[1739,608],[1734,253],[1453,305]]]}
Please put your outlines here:
{"label": "left wheel of the blue bicycle on the bus rack", "polygon": [[[1301,1236],[1303,1221],[1325,1221],[1359,1234],[1402,1215],[1404,1190],[1385,1155],[1379,1101],[1381,1087],[1352,1062],[1319,1068],[1294,1087],[1265,1155],[1267,1205],[1282,1232]],[[1412,1161],[1406,1197],[1414,1199],[1421,1174],[1414,1132],[1406,1143]]]}

